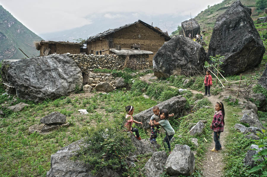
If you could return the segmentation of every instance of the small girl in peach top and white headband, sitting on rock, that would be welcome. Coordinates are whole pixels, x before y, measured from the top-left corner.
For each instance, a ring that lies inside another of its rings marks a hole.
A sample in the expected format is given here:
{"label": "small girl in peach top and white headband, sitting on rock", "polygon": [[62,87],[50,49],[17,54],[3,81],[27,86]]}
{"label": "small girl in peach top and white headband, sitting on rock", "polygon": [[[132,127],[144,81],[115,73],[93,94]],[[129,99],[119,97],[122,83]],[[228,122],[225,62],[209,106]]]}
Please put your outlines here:
{"label": "small girl in peach top and white headband, sitting on rock", "polygon": [[127,112],[125,119],[127,120],[125,126],[128,128],[128,131],[130,131],[131,133],[135,132],[135,137],[137,140],[141,140],[141,137],[139,136],[139,131],[136,128],[133,128],[133,122],[134,123],[140,123],[143,124],[142,122],[137,122],[136,120],[133,119],[133,114],[134,114],[134,107],[129,105],[125,107],[125,110]]}

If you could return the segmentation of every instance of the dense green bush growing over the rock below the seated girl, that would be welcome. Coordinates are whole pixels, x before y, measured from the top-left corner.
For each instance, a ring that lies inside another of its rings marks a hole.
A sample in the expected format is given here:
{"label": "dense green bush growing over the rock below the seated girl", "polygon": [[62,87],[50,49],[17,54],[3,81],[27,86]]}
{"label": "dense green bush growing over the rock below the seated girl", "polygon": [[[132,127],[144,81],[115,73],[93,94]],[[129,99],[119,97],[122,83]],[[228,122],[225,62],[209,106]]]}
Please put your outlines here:
{"label": "dense green bush growing over the rock below the seated girl", "polygon": [[126,132],[109,123],[91,127],[86,131],[85,141],[89,145],[80,158],[90,166],[92,174],[97,174],[102,167],[125,170],[126,156],[135,151]]}

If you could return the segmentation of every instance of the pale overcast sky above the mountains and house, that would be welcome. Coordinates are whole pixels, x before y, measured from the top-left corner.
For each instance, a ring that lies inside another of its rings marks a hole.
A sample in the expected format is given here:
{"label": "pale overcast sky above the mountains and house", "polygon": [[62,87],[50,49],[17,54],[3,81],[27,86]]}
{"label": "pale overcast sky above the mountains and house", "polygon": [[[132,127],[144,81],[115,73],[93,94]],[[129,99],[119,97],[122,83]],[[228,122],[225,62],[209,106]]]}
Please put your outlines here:
{"label": "pale overcast sky above the mountains and house", "polygon": [[92,24],[92,16],[114,19],[132,13],[133,23],[138,13],[147,15],[192,15],[195,17],[208,5],[222,0],[0,0],[0,4],[18,21],[37,35]]}

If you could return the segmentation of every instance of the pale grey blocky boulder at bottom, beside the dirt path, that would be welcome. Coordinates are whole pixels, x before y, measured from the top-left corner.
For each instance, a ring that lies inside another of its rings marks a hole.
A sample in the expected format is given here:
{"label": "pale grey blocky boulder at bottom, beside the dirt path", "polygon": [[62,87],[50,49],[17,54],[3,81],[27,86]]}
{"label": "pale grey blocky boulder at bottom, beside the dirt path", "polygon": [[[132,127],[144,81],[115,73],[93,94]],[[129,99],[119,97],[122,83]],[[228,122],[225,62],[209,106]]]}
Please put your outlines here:
{"label": "pale grey blocky boulder at bottom, beside the dirt path", "polygon": [[176,144],[169,155],[166,165],[169,175],[190,176],[195,171],[195,156],[187,145]]}

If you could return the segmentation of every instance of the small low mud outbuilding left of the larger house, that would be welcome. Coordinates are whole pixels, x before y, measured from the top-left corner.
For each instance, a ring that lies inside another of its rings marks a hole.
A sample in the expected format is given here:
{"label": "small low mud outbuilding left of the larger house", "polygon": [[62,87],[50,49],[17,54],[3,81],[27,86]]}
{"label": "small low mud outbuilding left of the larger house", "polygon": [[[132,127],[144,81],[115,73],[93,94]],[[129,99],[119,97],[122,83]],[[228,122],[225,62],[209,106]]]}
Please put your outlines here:
{"label": "small low mud outbuilding left of the larger house", "polygon": [[44,52],[48,48],[50,48],[49,54],[80,54],[80,52],[83,52],[82,43],[40,41],[36,45],[36,49],[40,51],[40,56],[44,56]]}

